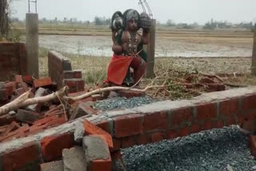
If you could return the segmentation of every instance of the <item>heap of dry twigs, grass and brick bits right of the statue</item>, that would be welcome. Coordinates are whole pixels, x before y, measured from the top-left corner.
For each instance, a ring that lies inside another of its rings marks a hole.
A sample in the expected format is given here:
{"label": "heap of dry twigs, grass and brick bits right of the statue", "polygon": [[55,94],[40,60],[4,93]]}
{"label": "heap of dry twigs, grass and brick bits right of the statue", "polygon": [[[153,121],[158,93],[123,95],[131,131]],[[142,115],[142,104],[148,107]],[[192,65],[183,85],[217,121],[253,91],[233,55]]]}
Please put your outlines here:
{"label": "heap of dry twigs, grass and brick bits right of the statue", "polygon": [[[229,74],[204,74],[198,70],[174,70],[172,68],[162,69],[156,67],[153,80],[149,80],[150,85],[162,85],[158,89],[154,89],[147,94],[154,99],[159,100],[178,100],[184,98],[195,97],[202,93],[223,91],[233,87],[245,87],[246,85],[234,85],[229,82],[229,79],[236,75]],[[239,75],[237,75],[239,76]],[[148,85],[145,80],[143,85]]]}

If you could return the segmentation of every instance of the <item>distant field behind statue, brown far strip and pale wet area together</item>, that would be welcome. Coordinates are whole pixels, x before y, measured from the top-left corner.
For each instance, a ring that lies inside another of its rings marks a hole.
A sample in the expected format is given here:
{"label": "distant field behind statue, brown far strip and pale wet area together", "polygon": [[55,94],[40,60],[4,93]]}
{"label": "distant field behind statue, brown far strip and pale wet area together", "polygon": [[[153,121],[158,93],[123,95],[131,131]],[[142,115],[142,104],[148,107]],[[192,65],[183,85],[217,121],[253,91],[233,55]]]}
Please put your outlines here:
{"label": "distant field behind statue, brown far strip and pale wet area together", "polygon": [[[39,28],[39,45],[67,54],[110,57],[111,32],[106,26]],[[253,33],[250,30],[175,30],[157,27],[156,57],[250,57]]]}

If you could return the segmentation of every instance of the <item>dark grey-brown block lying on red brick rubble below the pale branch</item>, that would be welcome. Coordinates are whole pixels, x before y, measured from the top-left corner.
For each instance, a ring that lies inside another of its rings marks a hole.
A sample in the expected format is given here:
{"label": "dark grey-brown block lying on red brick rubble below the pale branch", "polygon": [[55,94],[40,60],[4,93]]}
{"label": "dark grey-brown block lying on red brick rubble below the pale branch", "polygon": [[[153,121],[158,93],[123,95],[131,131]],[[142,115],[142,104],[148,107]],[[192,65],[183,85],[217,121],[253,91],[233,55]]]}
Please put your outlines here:
{"label": "dark grey-brown block lying on red brick rubble below the pale branch", "polygon": [[18,109],[16,118],[18,121],[22,121],[29,124],[33,124],[34,121],[42,119],[42,117],[40,117],[38,113],[33,113],[31,111],[27,111],[24,109]]}

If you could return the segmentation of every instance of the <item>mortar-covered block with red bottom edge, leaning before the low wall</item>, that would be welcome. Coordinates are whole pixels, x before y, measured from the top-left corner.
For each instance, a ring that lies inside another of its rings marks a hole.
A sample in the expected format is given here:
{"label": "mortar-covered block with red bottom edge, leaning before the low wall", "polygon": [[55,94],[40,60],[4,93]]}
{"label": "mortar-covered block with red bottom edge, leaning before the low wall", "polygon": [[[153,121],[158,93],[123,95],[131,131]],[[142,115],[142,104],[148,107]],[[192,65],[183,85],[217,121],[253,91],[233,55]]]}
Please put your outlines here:
{"label": "mortar-covered block with red bottom edge, leaning before the low wall", "polygon": [[110,170],[111,157],[106,141],[98,135],[83,137],[82,146],[86,153],[87,170]]}

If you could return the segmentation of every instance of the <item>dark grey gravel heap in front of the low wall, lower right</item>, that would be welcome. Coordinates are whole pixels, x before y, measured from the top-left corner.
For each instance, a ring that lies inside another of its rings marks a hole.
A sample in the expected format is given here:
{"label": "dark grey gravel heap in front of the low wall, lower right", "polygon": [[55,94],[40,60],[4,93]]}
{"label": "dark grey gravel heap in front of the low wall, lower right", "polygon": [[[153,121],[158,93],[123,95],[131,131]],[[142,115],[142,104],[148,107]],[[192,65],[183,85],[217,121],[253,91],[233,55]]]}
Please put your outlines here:
{"label": "dark grey gravel heap in front of the low wall, lower right", "polygon": [[256,171],[247,145],[248,138],[231,126],[123,149],[122,156],[129,171]]}

